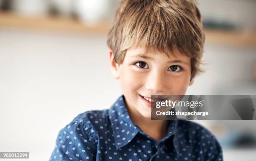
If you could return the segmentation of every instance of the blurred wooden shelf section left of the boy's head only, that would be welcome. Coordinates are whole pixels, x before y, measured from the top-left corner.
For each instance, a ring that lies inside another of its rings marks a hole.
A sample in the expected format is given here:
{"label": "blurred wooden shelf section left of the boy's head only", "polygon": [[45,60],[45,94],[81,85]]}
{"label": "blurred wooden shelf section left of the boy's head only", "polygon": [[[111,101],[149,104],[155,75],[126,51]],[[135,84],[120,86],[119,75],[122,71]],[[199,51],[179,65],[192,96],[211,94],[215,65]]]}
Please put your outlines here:
{"label": "blurred wooden shelf section left of the boy's head only", "polygon": [[72,18],[60,17],[24,17],[15,13],[0,12],[0,28],[20,28],[29,30],[61,31],[79,34],[106,34],[110,22],[100,22],[95,26],[86,26]]}

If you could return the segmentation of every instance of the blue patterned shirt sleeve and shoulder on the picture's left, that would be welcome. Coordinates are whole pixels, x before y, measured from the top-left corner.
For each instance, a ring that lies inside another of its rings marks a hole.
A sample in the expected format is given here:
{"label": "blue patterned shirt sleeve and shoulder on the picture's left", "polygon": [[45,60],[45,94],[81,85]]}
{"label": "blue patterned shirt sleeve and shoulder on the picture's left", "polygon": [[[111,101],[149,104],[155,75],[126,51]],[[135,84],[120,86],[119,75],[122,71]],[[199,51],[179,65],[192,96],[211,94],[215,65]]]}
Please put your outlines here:
{"label": "blue patterned shirt sleeve and shoulder on the picture's left", "polygon": [[50,161],[73,158],[77,160],[81,156],[87,159],[95,158],[99,141],[97,124],[100,119],[102,121],[107,119],[107,115],[108,110],[87,111],[77,115],[59,131]]}

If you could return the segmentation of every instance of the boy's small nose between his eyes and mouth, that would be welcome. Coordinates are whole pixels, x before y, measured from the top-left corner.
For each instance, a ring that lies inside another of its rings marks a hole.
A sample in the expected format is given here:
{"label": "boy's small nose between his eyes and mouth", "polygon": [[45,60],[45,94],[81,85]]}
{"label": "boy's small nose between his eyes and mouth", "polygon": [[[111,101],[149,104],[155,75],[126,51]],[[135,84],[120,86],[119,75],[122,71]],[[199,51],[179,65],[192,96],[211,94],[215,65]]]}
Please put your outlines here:
{"label": "boy's small nose between his eyes and mouth", "polygon": [[151,71],[148,73],[145,88],[154,95],[162,95],[165,91],[164,74],[159,71]]}

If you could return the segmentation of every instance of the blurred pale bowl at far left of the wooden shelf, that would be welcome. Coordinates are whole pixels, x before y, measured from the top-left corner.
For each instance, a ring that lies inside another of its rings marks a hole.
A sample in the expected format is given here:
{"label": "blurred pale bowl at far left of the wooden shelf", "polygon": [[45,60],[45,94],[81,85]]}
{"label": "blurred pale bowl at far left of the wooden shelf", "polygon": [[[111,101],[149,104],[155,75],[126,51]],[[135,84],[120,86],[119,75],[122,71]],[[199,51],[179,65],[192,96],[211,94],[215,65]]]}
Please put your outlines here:
{"label": "blurred pale bowl at far left of the wooden shelf", "polygon": [[13,8],[21,15],[44,16],[48,11],[46,0],[13,0]]}

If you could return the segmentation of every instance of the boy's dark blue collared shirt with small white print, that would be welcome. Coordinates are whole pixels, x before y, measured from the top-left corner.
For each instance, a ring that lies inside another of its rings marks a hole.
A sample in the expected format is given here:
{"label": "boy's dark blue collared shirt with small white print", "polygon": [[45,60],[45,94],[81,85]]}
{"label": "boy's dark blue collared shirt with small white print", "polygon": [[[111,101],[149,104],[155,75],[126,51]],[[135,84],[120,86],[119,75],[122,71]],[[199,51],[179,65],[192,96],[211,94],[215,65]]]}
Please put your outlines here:
{"label": "boy's dark blue collared shirt with small white print", "polygon": [[[109,110],[79,114],[62,128],[49,161],[222,161],[222,149],[202,126],[170,120],[160,141],[129,117],[122,95]],[[154,130],[154,129],[152,129]]]}

